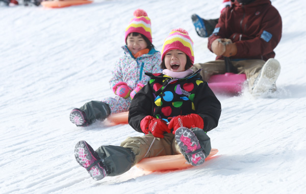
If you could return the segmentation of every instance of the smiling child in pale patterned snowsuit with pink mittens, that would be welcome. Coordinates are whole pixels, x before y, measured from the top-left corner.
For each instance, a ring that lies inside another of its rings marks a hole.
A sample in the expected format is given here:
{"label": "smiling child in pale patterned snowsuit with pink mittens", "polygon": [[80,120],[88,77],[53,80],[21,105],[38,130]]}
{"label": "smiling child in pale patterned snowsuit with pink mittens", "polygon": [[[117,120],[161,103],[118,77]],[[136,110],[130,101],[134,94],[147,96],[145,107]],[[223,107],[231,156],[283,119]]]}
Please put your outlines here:
{"label": "smiling child in pale patterned snowsuit with pink mittens", "polygon": [[161,53],[152,44],[150,18],[142,9],[135,10],[134,16],[125,29],[124,55],[115,64],[109,81],[116,96],[74,108],[70,112],[73,124],[88,126],[111,113],[128,111],[134,95],[149,81],[144,73],[161,72]]}

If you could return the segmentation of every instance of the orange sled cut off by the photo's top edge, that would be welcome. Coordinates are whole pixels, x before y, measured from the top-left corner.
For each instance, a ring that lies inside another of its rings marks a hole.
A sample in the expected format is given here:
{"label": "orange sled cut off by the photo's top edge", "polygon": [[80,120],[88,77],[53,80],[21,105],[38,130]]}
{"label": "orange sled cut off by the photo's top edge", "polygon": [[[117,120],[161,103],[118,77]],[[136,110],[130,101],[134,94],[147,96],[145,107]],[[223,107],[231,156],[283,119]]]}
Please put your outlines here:
{"label": "orange sled cut off by the photo's top edge", "polygon": [[64,8],[83,4],[91,4],[93,1],[88,0],[64,0],[64,1],[44,1],[41,5],[45,8]]}

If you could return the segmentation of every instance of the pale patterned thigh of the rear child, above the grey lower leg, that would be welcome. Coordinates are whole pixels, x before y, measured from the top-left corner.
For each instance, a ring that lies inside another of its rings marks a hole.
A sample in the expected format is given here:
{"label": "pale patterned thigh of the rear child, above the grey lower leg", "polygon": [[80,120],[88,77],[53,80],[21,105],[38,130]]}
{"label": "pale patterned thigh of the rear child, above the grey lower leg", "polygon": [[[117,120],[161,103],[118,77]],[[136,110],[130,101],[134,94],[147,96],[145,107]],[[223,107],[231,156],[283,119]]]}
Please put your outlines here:
{"label": "pale patterned thigh of the rear child, above the grey lower leg", "polygon": [[121,98],[119,96],[106,98],[102,102],[108,104],[112,113],[129,111],[131,98]]}

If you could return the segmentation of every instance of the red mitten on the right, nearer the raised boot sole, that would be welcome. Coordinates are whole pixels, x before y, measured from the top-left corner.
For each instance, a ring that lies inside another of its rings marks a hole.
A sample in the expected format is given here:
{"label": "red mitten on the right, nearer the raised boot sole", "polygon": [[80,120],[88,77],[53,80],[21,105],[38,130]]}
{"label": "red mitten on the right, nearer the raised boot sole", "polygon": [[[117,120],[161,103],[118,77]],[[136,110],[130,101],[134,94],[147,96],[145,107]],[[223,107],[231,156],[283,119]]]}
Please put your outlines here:
{"label": "red mitten on the right, nearer the raised boot sole", "polygon": [[188,114],[185,116],[179,115],[173,117],[170,120],[168,128],[173,129],[174,134],[176,129],[180,127],[187,127],[188,129],[190,129],[191,127],[197,127],[203,129],[204,122],[202,117],[200,117],[198,114]]}

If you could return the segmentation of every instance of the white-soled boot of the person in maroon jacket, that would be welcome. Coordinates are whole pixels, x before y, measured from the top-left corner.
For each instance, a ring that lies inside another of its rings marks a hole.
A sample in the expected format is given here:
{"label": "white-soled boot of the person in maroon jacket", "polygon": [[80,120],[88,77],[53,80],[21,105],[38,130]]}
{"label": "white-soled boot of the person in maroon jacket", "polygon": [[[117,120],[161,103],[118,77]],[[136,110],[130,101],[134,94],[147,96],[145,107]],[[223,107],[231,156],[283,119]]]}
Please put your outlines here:
{"label": "white-soled boot of the person in maroon jacket", "polygon": [[276,59],[269,59],[261,69],[259,76],[256,78],[252,94],[260,94],[268,92],[269,90],[275,90],[275,82],[278,78],[279,73],[281,72],[281,65]]}

